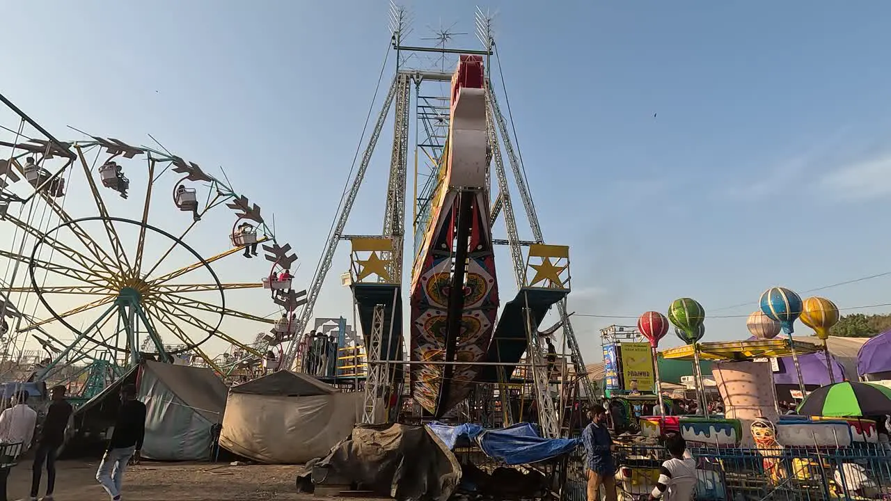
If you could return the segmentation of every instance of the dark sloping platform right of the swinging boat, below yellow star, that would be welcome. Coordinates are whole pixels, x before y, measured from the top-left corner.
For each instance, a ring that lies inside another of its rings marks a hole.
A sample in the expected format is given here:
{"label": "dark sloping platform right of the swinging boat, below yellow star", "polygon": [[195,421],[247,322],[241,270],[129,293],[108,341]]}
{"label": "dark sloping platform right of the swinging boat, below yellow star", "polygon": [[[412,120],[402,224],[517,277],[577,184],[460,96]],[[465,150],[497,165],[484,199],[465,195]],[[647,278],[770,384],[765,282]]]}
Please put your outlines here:
{"label": "dark sloping platform right of the swinging boat, below yellow star", "polygon": [[[532,329],[536,331],[544,316],[558,301],[566,297],[566,289],[539,289],[524,287],[517,292],[517,297],[504,305],[501,318],[495,325],[495,333],[492,343],[486,354],[487,362],[498,362],[504,367],[504,377],[511,379],[516,364],[526,351],[528,340],[526,336],[526,316],[523,309],[528,301],[532,310]],[[479,372],[478,382],[499,382],[498,365],[486,365]],[[507,381],[509,382],[509,381]]]}

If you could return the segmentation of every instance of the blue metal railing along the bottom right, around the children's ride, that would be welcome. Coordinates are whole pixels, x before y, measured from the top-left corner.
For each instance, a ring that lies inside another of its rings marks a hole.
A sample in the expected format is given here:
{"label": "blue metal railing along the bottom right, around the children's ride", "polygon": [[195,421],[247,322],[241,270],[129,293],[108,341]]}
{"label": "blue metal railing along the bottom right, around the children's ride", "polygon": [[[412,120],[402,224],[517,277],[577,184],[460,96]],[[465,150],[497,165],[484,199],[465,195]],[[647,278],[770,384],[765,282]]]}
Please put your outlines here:
{"label": "blue metal railing along the bottom right, around the children's ride", "polygon": [[[696,462],[698,501],[891,499],[891,451],[853,448],[688,448]],[[665,448],[619,446],[620,501],[646,498],[656,486]],[[584,451],[568,459],[564,499],[585,501]]]}

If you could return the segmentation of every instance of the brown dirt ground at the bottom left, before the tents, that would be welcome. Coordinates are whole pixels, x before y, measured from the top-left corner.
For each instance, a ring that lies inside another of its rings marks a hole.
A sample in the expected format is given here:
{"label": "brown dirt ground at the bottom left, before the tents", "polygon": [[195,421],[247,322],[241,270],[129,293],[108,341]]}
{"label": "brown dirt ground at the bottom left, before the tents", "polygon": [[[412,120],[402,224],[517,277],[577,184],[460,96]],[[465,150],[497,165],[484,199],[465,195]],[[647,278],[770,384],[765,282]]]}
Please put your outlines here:
{"label": "brown dirt ground at the bottom left, before the tents", "polygon": [[[56,464],[54,497],[60,501],[108,499],[96,482],[98,461],[60,461]],[[296,466],[248,464],[149,463],[130,466],[124,475],[122,498],[127,501],[247,501],[315,499],[297,494]],[[46,472],[41,480],[44,495]],[[31,488],[31,462],[23,461],[9,477],[9,499],[27,498]],[[329,498],[335,499],[335,498]]]}

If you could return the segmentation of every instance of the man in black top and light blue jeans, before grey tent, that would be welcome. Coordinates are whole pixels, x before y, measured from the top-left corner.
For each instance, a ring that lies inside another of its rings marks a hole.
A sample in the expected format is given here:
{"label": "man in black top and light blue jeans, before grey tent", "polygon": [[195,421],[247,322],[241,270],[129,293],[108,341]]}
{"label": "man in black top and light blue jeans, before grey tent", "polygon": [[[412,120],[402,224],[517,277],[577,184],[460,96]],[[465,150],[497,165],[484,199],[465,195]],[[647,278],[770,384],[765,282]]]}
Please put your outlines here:
{"label": "man in black top and light blue jeans, before grey tent", "polygon": [[120,500],[120,487],[127,463],[130,458],[134,459],[134,463],[139,462],[145,438],[145,404],[136,399],[136,387],[132,384],[124,386],[120,390],[120,399],[118,421],[96,472],[96,480],[113,501]]}

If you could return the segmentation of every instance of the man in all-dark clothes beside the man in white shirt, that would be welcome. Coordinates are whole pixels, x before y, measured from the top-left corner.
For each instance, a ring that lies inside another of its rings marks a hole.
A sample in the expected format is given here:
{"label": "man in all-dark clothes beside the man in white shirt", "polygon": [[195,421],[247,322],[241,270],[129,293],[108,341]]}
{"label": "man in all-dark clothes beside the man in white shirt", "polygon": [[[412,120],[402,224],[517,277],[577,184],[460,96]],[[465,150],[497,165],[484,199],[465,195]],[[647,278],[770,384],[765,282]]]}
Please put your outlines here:
{"label": "man in all-dark clothes beside the man in white shirt", "polygon": [[31,469],[31,499],[37,499],[44,463],[46,463],[46,496],[44,499],[53,499],[56,451],[65,441],[65,428],[68,428],[68,420],[73,411],[71,404],[65,400],[64,386],[53,386],[51,395],[52,401],[46,412],[44,426],[37,435],[37,452],[34,456],[34,466]]}

